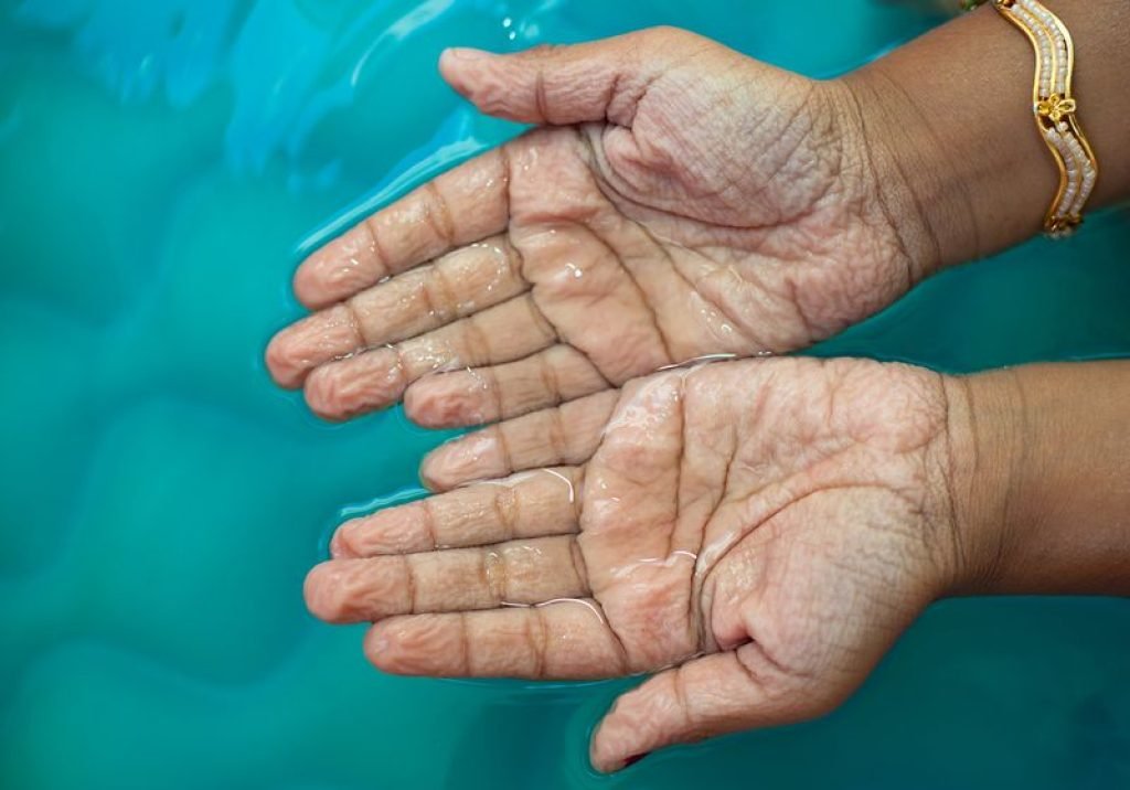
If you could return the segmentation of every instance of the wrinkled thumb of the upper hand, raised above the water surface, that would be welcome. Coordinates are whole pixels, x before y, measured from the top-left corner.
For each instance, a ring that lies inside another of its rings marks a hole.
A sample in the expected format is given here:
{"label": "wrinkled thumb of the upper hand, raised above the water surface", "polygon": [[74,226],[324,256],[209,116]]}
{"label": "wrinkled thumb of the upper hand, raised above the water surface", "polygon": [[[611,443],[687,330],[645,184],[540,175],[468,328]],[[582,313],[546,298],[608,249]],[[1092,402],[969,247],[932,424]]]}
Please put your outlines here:
{"label": "wrinkled thumb of the upper hand, raised above the water surface", "polygon": [[647,88],[692,38],[684,31],[653,28],[515,54],[450,49],[440,57],[440,72],[488,115],[521,123],[609,120],[628,127]]}

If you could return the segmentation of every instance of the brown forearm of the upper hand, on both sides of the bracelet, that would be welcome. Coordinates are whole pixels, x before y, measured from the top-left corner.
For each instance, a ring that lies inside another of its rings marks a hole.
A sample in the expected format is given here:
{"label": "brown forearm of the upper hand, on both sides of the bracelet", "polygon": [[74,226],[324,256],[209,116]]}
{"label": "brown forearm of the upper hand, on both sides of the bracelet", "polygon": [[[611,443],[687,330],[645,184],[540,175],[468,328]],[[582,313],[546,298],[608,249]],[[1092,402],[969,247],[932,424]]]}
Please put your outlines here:
{"label": "brown forearm of the upper hand, on both sides of the bracelet", "polygon": [[[1099,207],[1130,194],[1130,2],[1045,5],[1075,41],[1074,92],[1101,168],[1089,208]],[[1028,41],[985,6],[844,78],[890,212],[931,263],[1040,232],[1059,172],[1033,123],[1034,68]]]}

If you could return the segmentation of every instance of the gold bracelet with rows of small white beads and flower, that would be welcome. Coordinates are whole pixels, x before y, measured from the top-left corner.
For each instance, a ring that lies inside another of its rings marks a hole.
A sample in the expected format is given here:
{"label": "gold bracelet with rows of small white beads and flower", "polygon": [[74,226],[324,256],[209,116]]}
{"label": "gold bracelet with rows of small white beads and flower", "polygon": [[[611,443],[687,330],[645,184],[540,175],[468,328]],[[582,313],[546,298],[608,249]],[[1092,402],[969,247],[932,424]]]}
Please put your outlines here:
{"label": "gold bracelet with rows of small white beads and flower", "polygon": [[[963,8],[975,8],[983,2],[964,0]],[[1098,160],[1079,125],[1078,102],[1071,95],[1075,44],[1063,21],[1036,0],[992,2],[1024,32],[1035,51],[1032,111],[1040,136],[1060,171],[1059,190],[1044,217],[1044,233],[1053,238],[1067,236],[1083,222],[1083,207],[1098,179]]]}

